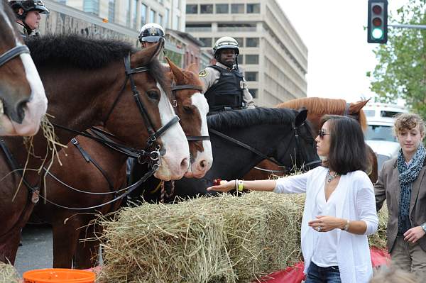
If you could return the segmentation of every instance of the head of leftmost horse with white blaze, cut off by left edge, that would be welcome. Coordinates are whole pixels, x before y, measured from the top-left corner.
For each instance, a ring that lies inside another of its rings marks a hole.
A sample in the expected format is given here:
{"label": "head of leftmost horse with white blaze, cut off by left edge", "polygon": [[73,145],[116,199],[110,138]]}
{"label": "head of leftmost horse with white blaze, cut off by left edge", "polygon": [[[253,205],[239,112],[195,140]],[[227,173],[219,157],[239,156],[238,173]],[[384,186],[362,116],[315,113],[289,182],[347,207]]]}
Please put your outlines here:
{"label": "head of leftmost horse with white blaze, cut off by left edge", "polygon": [[0,1],[0,136],[35,135],[48,99],[30,52],[15,28],[8,1]]}

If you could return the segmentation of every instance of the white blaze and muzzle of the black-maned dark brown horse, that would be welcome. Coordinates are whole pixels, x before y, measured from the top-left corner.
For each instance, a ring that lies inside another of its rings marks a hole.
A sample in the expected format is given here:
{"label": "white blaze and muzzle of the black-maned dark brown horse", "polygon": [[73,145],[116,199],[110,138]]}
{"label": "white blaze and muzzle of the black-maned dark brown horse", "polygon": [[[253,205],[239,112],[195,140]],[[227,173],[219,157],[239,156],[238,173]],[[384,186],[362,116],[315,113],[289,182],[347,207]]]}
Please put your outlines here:
{"label": "white blaze and muzzle of the black-maned dark brown horse", "polygon": [[[165,126],[175,116],[175,111],[173,111],[168,96],[160,87],[160,84],[157,84],[157,87],[161,91],[158,104],[161,126]],[[166,181],[182,178],[187,172],[187,167],[182,167],[182,161],[186,159],[187,165],[190,162],[190,148],[182,127],[179,123],[175,123],[160,138],[163,142],[165,155],[161,157],[160,168],[155,172],[154,176]]]}

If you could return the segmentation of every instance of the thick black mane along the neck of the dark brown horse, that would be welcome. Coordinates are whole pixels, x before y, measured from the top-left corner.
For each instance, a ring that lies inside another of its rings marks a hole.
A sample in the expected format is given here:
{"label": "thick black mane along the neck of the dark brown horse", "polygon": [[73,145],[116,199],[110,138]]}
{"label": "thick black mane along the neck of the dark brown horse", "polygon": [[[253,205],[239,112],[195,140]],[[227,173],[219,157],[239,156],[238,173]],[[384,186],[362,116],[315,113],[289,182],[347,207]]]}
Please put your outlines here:
{"label": "thick black mane along the neck of the dark brown horse", "polygon": [[29,37],[25,41],[37,67],[65,65],[81,70],[94,70],[123,60],[129,52],[135,52],[129,43],[84,38],[76,34]]}

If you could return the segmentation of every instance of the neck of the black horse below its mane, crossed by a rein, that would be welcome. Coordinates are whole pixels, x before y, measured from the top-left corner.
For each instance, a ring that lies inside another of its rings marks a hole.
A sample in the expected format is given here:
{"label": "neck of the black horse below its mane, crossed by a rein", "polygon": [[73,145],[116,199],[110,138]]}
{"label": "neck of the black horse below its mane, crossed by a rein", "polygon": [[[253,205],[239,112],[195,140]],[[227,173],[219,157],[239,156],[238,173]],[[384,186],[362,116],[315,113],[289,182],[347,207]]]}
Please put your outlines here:
{"label": "neck of the black horse below its mane, crossed by a rein", "polygon": [[[285,136],[283,126],[266,124],[246,128],[234,128],[220,132],[242,143],[246,143],[268,156],[272,156],[273,150]],[[214,163],[212,169],[207,174],[213,179],[217,178],[217,176],[226,179],[242,177],[263,160],[262,157],[255,155],[253,152],[228,140],[224,140],[224,138],[217,135],[211,134],[210,138],[212,141]]]}

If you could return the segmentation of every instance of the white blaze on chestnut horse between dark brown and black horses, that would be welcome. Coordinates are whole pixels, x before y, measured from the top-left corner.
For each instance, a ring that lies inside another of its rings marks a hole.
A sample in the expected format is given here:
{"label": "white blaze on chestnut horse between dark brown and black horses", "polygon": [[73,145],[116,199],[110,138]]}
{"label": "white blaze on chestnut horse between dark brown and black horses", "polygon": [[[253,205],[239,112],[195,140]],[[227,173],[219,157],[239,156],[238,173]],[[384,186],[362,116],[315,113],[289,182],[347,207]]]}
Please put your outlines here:
{"label": "white blaze on chestnut horse between dark brown and black horses", "polygon": [[[191,96],[192,105],[196,106],[200,111],[201,118],[201,135],[209,135],[209,129],[207,128],[207,113],[209,113],[209,104],[203,94],[197,92]],[[185,177],[202,178],[207,171],[210,170],[213,163],[212,154],[212,143],[209,140],[202,141],[202,152],[197,152],[196,156],[192,156],[192,163],[190,170],[188,170]]]}

